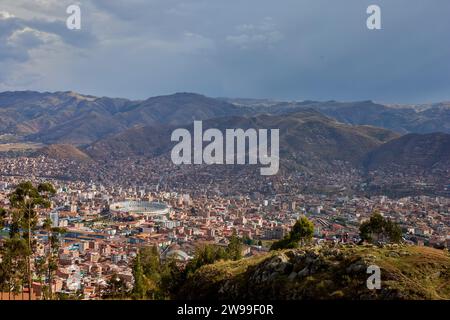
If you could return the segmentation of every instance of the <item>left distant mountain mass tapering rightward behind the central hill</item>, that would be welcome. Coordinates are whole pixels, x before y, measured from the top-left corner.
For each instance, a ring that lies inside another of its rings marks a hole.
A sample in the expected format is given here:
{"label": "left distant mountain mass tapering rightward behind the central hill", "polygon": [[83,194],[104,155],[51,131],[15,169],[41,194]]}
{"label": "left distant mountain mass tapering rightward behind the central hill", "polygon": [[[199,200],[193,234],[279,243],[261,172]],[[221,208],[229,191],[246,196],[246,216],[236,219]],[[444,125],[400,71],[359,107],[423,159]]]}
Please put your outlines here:
{"label": "left distant mountain mass tapering rightward behind the central hill", "polygon": [[180,125],[245,111],[191,93],[131,101],[75,92],[4,92],[0,134],[44,144],[87,145],[135,126]]}

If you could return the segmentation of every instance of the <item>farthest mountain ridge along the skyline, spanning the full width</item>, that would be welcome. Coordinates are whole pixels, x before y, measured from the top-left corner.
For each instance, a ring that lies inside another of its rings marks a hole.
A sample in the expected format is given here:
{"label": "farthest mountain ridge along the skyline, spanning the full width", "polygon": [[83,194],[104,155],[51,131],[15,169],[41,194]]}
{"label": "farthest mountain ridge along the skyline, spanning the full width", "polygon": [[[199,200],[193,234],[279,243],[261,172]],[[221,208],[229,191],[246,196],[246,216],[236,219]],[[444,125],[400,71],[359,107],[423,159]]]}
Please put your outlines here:
{"label": "farthest mountain ridge along the skyline, spanning the full width", "polygon": [[450,133],[450,103],[383,105],[361,102],[283,102],[215,99],[176,93],[146,100],[94,97],[75,92],[0,93],[0,135],[44,144],[89,145],[134,126],[184,125],[193,120],[314,109],[342,123],[406,133]]}

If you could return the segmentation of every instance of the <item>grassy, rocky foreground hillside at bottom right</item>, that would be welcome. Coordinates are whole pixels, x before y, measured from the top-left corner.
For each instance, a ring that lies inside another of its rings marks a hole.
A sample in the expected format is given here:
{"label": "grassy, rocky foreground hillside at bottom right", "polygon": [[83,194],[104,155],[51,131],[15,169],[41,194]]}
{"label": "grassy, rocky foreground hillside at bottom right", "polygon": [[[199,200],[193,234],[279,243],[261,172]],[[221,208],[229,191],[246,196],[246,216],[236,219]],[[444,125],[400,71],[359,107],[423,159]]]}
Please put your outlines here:
{"label": "grassy, rocky foreground hillside at bottom right", "polygon": [[[366,286],[381,269],[381,289]],[[415,246],[294,249],[196,271],[177,298],[196,300],[450,299],[450,255]]]}

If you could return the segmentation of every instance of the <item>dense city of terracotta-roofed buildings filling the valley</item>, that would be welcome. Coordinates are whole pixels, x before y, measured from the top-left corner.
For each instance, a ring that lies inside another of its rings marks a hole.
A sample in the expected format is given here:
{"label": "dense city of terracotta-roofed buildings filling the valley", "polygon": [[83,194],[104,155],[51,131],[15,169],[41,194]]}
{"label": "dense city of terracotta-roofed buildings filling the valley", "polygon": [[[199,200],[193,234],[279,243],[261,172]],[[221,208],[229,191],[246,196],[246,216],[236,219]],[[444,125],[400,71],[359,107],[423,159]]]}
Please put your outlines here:
{"label": "dense city of terracotta-roofed buildings filling the valley", "polygon": [[[406,244],[450,247],[450,200],[446,197],[358,195],[352,188],[361,181],[351,172],[314,176],[315,183],[308,183],[322,192],[307,192],[302,183],[293,183],[305,177],[294,180],[281,175],[266,180],[236,175],[233,169],[214,175],[195,167],[175,169],[163,159],[159,166],[158,160],[151,166],[146,161],[123,160],[100,171],[101,165],[44,156],[0,160],[0,207],[9,208],[9,195],[23,181],[51,182],[56,189],[51,207],[39,210],[33,234],[37,241],[33,261],[38,261],[49,250],[48,233],[42,227],[46,219],[65,230],[58,239],[52,292],[99,299],[113,275],[132,288],[132,262],[142,247],[155,246],[161,259],[173,257],[186,264],[197,247],[226,247],[236,235],[245,244],[244,257],[261,255],[302,216],[314,223],[316,244],[358,243],[361,223],[379,212],[401,227]],[[221,177],[219,182],[214,176]],[[219,191],[218,186],[224,185],[227,188]],[[156,203],[167,210],[159,214],[114,210],[115,203],[124,201]],[[7,234],[5,228],[0,236]],[[42,298],[44,286],[35,273],[33,299]]]}

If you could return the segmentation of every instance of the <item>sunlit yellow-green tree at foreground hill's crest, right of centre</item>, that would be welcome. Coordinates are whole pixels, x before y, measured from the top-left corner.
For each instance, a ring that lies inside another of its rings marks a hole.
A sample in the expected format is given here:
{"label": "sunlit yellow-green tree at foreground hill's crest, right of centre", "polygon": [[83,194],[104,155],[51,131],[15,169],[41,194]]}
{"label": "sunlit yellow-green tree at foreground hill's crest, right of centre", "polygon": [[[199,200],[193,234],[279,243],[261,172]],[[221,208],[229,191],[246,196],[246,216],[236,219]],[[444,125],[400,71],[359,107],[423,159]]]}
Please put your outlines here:
{"label": "sunlit yellow-green tree at foreground hill's crest, right of centre", "polygon": [[299,243],[309,242],[314,235],[314,224],[306,217],[301,217],[292,227],[292,230],[281,240],[276,241],[270,250],[293,249]]}

